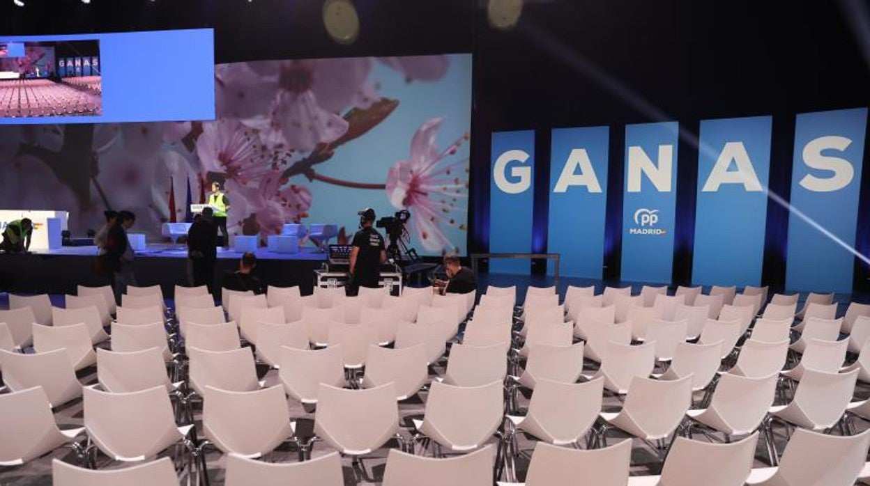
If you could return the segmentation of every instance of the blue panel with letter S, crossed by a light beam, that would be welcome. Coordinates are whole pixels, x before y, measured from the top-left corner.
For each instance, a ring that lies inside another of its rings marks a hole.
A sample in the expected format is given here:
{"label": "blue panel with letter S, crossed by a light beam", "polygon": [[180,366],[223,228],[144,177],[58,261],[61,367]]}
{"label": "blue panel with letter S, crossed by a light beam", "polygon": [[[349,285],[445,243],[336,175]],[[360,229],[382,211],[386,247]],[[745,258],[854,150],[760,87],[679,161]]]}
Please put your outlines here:
{"label": "blue panel with letter S, crossed by a light beam", "polygon": [[852,290],[854,255],[845,247],[855,244],[866,129],[867,108],[797,117],[786,256],[789,290]]}

